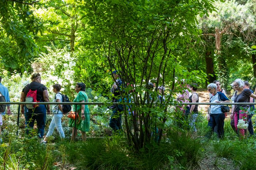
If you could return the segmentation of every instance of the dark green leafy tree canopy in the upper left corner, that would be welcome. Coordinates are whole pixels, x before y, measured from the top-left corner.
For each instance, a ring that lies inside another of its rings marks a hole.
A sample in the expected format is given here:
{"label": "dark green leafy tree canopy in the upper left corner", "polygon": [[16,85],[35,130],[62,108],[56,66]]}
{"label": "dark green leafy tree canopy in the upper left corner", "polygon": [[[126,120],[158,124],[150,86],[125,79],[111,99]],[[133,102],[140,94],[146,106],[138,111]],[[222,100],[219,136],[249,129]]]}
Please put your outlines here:
{"label": "dark green leafy tree canopy in the upper left corner", "polygon": [[38,55],[35,36],[41,23],[32,11],[37,4],[38,1],[32,0],[1,0],[0,60],[2,67],[11,72],[30,70],[33,58]]}

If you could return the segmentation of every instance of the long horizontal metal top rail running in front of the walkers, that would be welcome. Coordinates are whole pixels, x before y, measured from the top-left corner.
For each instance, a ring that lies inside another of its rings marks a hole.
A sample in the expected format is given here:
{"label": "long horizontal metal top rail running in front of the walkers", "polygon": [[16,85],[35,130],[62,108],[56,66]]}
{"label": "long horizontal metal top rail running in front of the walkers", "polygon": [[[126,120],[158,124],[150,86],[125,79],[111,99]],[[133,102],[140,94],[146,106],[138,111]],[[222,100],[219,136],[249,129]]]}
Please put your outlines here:
{"label": "long horizontal metal top rail running in front of the walkers", "polygon": [[[0,104],[86,104],[86,105],[104,105],[104,104],[131,104],[131,103],[117,103],[117,102],[0,102]],[[173,102],[163,103],[173,105]],[[177,103],[187,105],[256,105],[256,103]]]}

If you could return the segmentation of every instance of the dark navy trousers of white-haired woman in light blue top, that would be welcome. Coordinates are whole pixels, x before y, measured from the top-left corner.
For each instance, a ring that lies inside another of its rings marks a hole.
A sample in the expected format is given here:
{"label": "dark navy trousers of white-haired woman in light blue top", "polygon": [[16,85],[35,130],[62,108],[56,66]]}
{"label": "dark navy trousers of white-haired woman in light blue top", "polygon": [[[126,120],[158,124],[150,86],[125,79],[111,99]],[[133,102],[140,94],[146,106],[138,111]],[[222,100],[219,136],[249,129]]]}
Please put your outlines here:
{"label": "dark navy trousers of white-haired woman in light blue top", "polygon": [[219,138],[224,137],[224,119],[225,114],[210,114],[210,120],[208,121],[208,127],[210,131],[206,134],[207,138],[211,138],[212,133],[214,132],[215,126],[217,127],[217,134]]}

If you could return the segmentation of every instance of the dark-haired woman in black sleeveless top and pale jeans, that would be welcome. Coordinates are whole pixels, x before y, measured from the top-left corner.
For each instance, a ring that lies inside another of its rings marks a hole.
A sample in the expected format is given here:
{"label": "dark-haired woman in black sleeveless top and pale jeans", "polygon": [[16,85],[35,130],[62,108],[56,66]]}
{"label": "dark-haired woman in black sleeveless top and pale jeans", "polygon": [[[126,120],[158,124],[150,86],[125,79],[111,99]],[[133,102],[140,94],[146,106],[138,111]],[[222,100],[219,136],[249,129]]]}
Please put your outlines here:
{"label": "dark-haired woman in black sleeveless top and pale jeans", "polygon": [[[197,91],[197,84],[196,83],[192,83],[189,85],[189,89],[191,90],[191,96],[189,97],[189,103],[198,103],[199,102],[199,98],[198,98],[198,94],[196,93]],[[193,131],[197,131],[196,130],[196,126],[195,126],[195,122],[196,122],[196,118],[198,116],[198,105],[189,105],[190,106],[190,111],[189,114],[191,115],[190,117],[190,121],[189,121],[189,126],[192,128]]]}

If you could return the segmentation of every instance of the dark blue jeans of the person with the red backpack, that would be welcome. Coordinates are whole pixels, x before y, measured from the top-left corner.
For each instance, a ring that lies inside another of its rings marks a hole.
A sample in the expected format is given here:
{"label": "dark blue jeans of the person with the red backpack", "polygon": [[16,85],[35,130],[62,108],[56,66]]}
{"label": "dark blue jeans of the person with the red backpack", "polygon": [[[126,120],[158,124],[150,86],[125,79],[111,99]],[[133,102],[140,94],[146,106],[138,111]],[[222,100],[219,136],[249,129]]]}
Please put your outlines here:
{"label": "dark blue jeans of the person with the red backpack", "polygon": [[[26,107],[26,106],[25,106]],[[37,121],[38,137],[42,138],[45,131],[45,120],[46,120],[46,106],[44,104],[39,104],[38,107],[32,109],[25,108],[25,120],[26,120],[26,134],[34,128],[35,120]],[[28,128],[29,126],[29,128]]]}

